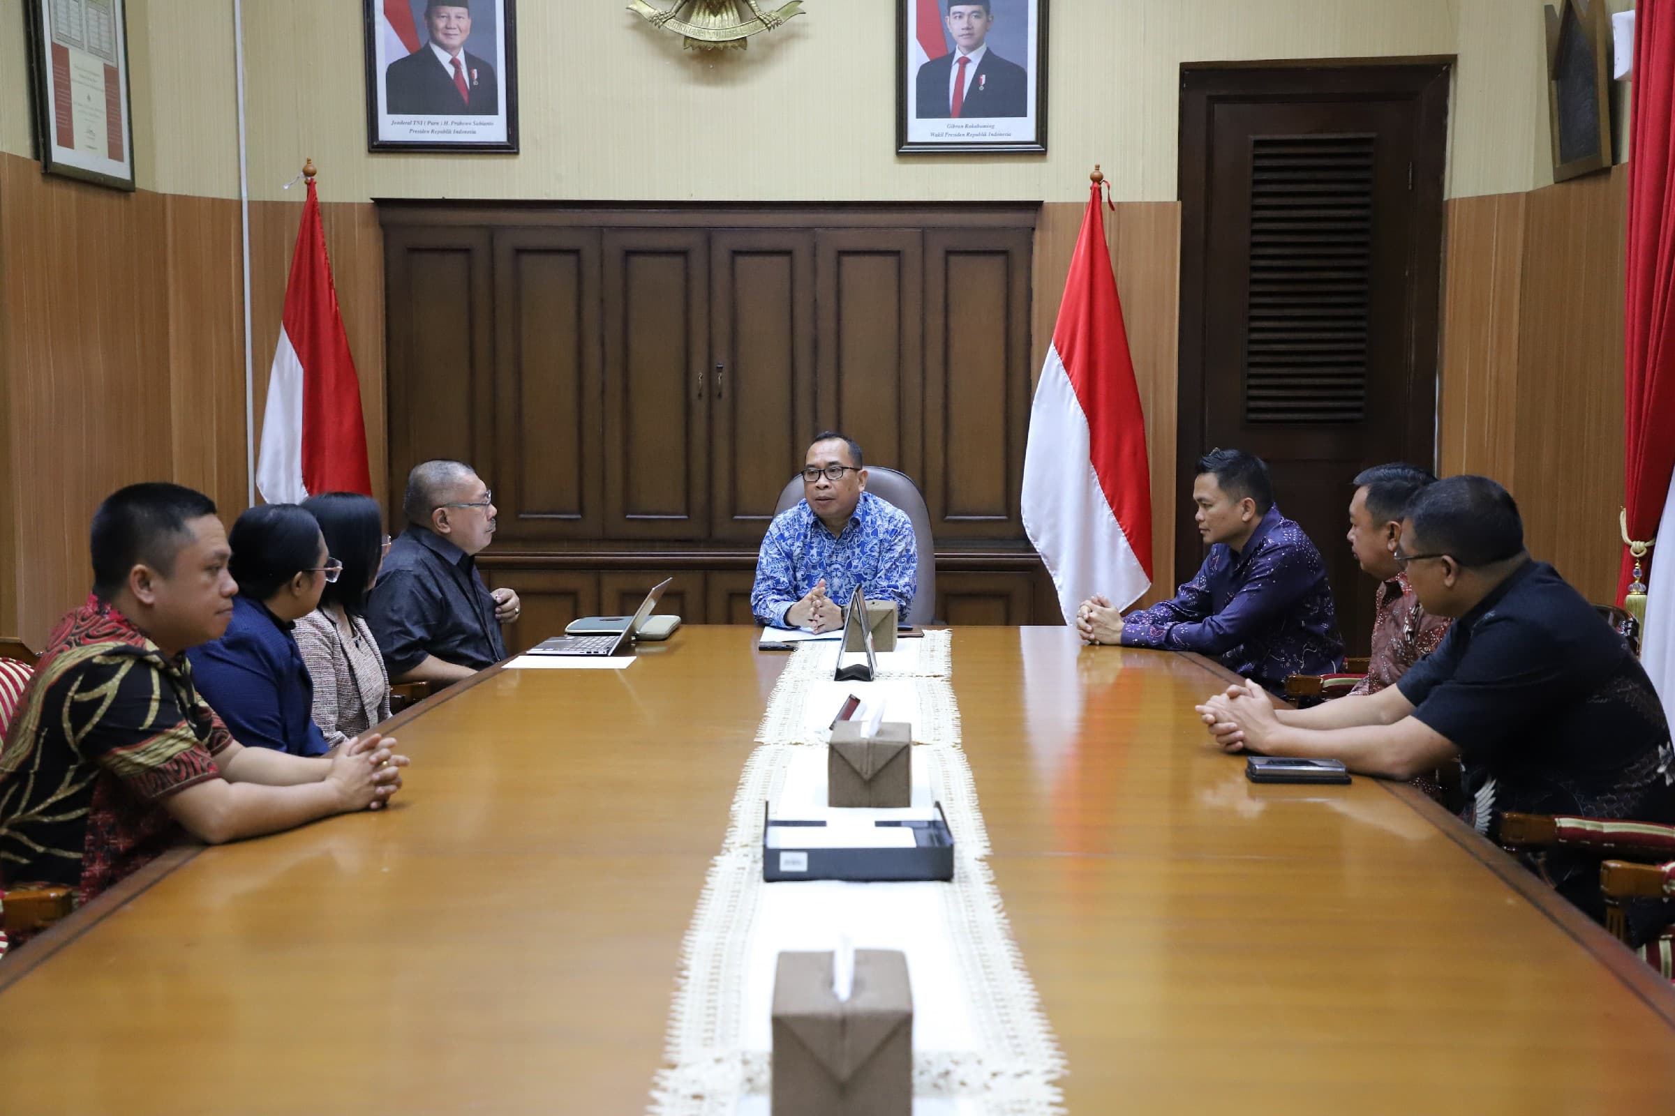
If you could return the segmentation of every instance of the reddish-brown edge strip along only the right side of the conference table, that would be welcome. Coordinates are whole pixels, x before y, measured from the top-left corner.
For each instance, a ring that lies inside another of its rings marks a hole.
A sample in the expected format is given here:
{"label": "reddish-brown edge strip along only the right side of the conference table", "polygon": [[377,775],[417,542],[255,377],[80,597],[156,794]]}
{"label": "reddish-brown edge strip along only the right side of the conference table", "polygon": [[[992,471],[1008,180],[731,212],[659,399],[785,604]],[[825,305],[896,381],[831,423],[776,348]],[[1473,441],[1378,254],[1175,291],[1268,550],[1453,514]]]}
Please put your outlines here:
{"label": "reddish-brown edge strip along only the right side of the conference table", "polygon": [[[1178,654],[1226,683],[1243,681],[1214,659],[1188,651]],[[1509,852],[1467,827],[1412,783],[1395,783],[1392,780],[1372,780],[1372,783],[1380,786],[1387,795],[1394,795],[1407,803],[1414,813],[1442,830],[1451,842],[1466,850],[1477,863],[1489,868],[1502,883],[1529,900],[1536,910],[1546,915],[1548,922],[1554,924],[1573,942],[1593,954],[1630,992],[1655,1011],[1670,1029],[1675,1029],[1675,985],[1665,980],[1662,974],[1652,969],[1631,949],[1618,942],[1605,927],[1543,883],[1534,872],[1518,863]]]}

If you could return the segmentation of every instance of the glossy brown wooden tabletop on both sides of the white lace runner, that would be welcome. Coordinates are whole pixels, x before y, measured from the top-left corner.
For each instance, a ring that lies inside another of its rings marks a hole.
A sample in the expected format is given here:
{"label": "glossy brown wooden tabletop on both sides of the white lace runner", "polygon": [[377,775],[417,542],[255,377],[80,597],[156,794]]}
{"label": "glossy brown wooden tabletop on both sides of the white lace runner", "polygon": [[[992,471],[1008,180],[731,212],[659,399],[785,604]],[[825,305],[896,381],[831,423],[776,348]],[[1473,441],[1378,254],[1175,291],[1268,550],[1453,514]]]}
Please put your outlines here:
{"label": "glossy brown wooden tabletop on both sides of the white lace runner", "polygon": [[[786,661],[494,669],[389,813],[183,848],[0,962],[0,1113],[642,1113]],[[963,627],[953,688],[1072,1113],[1668,1113],[1675,996],[1405,788],[1258,786],[1201,659]],[[958,837],[958,835],[956,835]]]}

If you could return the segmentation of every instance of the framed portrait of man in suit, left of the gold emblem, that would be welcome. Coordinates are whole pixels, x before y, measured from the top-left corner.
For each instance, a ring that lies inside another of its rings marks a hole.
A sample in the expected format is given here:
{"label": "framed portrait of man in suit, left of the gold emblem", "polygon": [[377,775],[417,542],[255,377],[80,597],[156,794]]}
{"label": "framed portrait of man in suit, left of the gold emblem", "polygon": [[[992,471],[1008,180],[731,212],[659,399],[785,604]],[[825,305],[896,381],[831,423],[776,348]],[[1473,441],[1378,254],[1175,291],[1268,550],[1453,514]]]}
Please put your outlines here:
{"label": "framed portrait of man in suit, left of the gold emblem", "polygon": [[367,151],[518,151],[514,0],[362,0]]}

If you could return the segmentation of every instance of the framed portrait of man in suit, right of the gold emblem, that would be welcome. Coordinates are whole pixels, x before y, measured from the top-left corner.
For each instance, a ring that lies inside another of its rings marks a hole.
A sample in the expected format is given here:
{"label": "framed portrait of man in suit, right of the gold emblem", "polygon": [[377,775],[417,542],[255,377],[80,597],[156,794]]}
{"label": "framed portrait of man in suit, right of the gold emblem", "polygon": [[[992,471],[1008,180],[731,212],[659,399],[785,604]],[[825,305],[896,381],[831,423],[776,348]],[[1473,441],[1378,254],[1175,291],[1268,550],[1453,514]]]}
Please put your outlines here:
{"label": "framed portrait of man in suit, right of the gold emblem", "polygon": [[896,152],[1047,151],[1047,0],[896,0]]}

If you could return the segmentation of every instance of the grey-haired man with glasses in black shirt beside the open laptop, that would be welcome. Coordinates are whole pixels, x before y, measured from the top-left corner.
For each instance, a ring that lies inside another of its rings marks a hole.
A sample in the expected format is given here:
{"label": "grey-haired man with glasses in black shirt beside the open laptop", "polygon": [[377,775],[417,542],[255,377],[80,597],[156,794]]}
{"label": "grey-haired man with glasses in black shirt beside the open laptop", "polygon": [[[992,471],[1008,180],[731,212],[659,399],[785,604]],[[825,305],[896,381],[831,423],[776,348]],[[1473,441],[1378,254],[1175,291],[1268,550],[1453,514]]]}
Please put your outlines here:
{"label": "grey-haired man with glasses in black shirt beside the open laptop", "polygon": [[501,624],[523,611],[511,589],[489,592],[476,555],[494,539],[494,500],[461,462],[407,474],[407,530],[390,545],[367,599],[367,624],[392,683],[454,683],[506,658]]}

